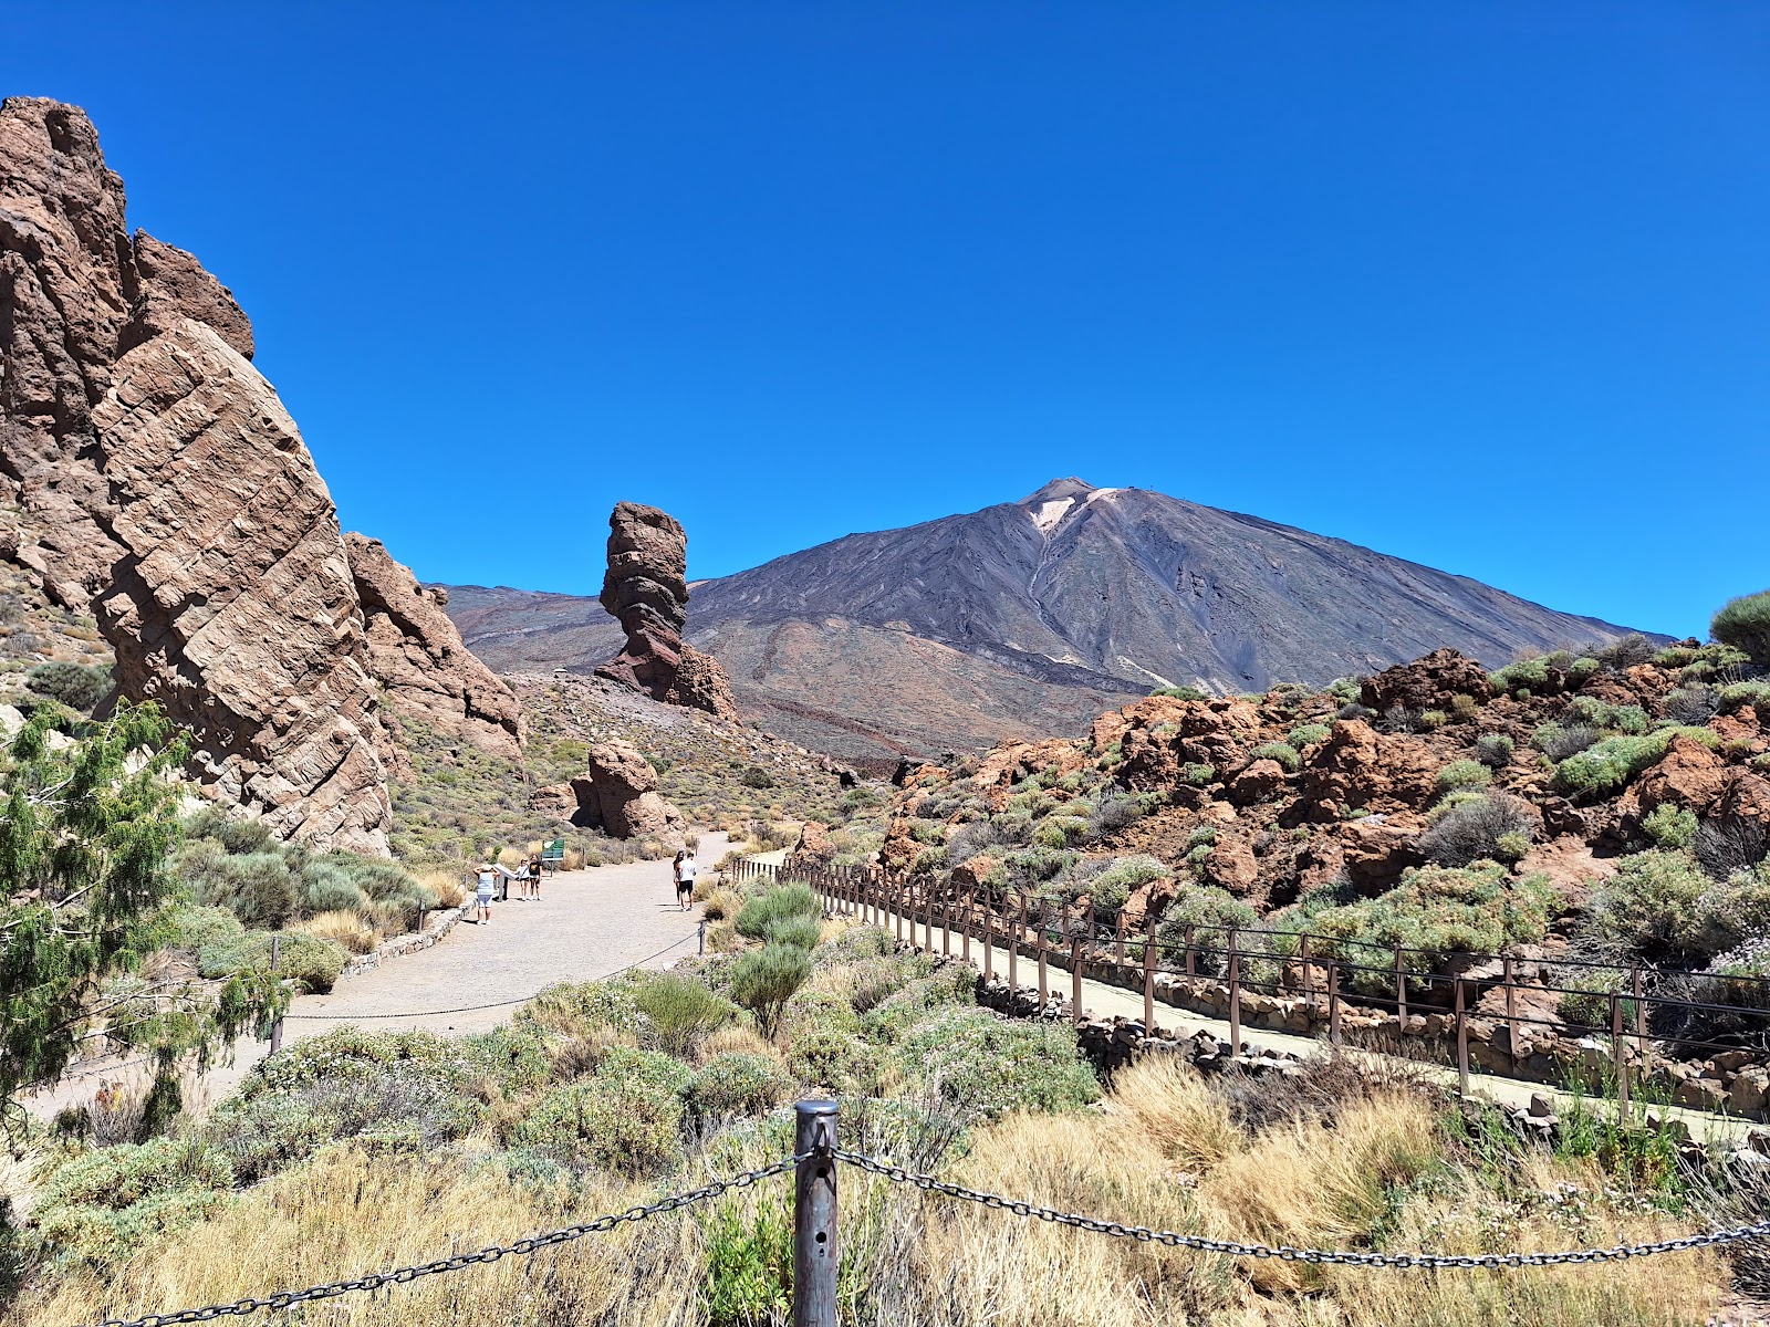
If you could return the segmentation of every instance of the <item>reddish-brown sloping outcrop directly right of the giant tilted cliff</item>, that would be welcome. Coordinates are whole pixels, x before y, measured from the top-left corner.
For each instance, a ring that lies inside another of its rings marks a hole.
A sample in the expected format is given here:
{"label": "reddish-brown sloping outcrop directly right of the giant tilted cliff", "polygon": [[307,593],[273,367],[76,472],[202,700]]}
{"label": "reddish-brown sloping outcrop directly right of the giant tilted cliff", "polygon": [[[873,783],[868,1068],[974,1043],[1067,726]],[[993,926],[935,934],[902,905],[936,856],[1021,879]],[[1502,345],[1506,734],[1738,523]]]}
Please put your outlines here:
{"label": "reddish-brown sloping outcrop directly right of the giant tilted cliff", "polygon": [[393,561],[381,540],[343,536],[363,605],[368,669],[402,715],[506,761],[522,759],[522,704],[467,653],[437,594]]}

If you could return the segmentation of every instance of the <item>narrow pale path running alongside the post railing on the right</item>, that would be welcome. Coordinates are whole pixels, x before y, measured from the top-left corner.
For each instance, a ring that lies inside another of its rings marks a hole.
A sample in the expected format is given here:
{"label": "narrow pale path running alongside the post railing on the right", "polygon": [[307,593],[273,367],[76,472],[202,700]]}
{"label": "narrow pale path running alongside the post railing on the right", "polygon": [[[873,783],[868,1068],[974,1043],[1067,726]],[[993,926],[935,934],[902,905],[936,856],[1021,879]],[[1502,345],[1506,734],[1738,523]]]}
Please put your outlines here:
{"label": "narrow pale path running alongside the post railing on the right", "polygon": [[[887,934],[896,934],[894,922],[896,913],[885,909],[885,931]],[[906,918],[908,924],[908,918]],[[940,952],[940,925],[935,925],[935,954]],[[917,924],[917,936],[922,934],[920,924]],[[906,941],[908,943],[908,941]],[[959,957],[963,950],[963,938],[958,929],[952,931],[950,952],[952,957]],[[1002,945],[991,945],[991,964],[995,968],[995,978],[998,982],[1007,980],[1007,948]],[[979,936],[972,936],[972,966],[982,971],[984,963],[984,943]],[[1037,955],[1021,954],[1020,971],[1016,980],[1021,989],[1039,986],[1039,959]],[[1058,955],[1053,952],[1046,959],[1046,989],[1051,1000],[1067,1000],[1071,991],[1069,968],[1058,963]],[[1106,986],[1104,982],[1096,982],[1089,977],[1081,978],[1081,1012],[1094,1014],[1097,1017],[1124,1017],[1135,1023],[1143,1021],[1143,996],[1136,991],[1126,991],[1119,986]],[[1066,1019],[1067,1021],[1067,1019]],[[1156,1026],[1166,1032],[1174,1032],[1179,1037],[1191,1037],[1193,1033],[1204,1030],[1216,1037],[1220,1042],[1228,1042],[1228,1021],[1212,1019],[1204,1014],[1195,1014],[1188,1009],[1175,1009],[1174,1005],[1165,1005],[1161,1000],[1156,1001]],[[1303,1037],[1290,1032],[1269,1032],[1266,1028],[1250,1028],[1243,1024],[1241,1040],[1255,1051],[1273,1049],[1289,1051],[1299,1056],[1326,1055],[1329,1046],[1326,1039]],[[1451,1092],[1457,1090],[1457,1070],[1455,1067],[1444,1067],[1439,1063],[1425,1060],[1407,1060],[1404,1056],[1391,1056],[1381,1051],[1363,1051],[1354,1046],[1345,1047],[1347,1053],[1365,1058],[1374,1063],[1391,1063],[1391,1065],[1409,1065],[1418,1069],[1421,1074],[1443,1083]],[[1565,1092],[1561,1088],[1547,1086],[1543,1083],[1529,1083],[1515,1078],[1501,1078],[1497,1074],[1478,1072],[1474,1065],[1469,1065],[1469,1095],[1487,1097],[1503,1106],[1529,1106],[1535,1093],[1545,1093],[1554,1099],[1556,1113],[1565,1118],[1565,1108],[1575,1101],[1575,1093]],[[1666,1120],[1678,1120],[1689,1131],[1690,1138],[1697,1143],[1706,1141],[1742,1141],[1752,1129],[1763,1131],[1765,1125],[1752,1120],[1738,1120],[1724,1115],[1710,1115],[1708,1111],[1690,1109],[1687,1106],[1643,1106],[1635,1104],[1635,1111],[1650,1109],[1653,1115]]]}

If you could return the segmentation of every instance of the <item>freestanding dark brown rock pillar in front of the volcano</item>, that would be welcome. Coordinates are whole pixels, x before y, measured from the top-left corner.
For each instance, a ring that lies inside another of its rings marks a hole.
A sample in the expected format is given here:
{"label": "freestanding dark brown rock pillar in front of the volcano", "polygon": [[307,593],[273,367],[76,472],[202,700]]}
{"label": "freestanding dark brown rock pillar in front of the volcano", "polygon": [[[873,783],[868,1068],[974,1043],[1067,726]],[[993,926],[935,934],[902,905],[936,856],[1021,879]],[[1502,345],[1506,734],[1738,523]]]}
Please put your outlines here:
{"label": "freestanding dark brown rock pillar in front of the volcano", "polygon": [[596,674],[655,701],[738,718],[731,683],[710,655],[681,639],[689,619],[689,536],[655,506],[618,502],[609,513],[609,571],[602,607],[620,619],[627,648]]}

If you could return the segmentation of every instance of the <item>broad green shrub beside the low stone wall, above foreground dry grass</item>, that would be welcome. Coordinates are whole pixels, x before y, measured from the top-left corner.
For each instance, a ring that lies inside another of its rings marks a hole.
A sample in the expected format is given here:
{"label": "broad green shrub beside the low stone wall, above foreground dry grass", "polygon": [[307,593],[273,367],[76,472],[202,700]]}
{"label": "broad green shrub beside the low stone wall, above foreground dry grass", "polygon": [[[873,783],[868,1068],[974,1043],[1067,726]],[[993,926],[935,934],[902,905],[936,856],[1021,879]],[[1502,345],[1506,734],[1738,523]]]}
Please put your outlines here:
{"label": "broad green shrub beside the low stone wall, above foreground dry grass", "polygon": [[982,1009],[942,1010],[919,1023],[899,1042],[897,1063],[972,1118],[1067,1111],[1099,1099],[1073,1028],[1009,1023]]}

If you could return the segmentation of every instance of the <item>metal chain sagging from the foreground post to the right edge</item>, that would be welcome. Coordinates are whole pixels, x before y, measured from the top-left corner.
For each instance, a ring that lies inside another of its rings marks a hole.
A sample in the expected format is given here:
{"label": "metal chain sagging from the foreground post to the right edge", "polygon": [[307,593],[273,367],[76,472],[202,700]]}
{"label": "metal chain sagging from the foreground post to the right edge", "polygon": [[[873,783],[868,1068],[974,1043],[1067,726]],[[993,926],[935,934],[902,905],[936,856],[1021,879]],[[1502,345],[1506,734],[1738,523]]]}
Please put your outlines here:
{"label": "metal chain sagging from the foreground post to the right edge", "polygon": [[917,1189],[927,1193],[942,1193],[949,1198],[963,1198],[968,1203],[979,1203],[982,1207],[993,1207],[1002,1212],[1012,1212],[1014,1216],[1037,1217],[1039,1221],[1051,1221],[1058,1226],[1074,1226],[1076,1230],[1090,1230],[1099,1235],[1115,1235],[1119,1239],[1133,1239],[1140,1244],[1166,1244],[1177,1249],[1197,1249],[1198,1253],[1223,1253],[1232,1258],[1280,1258],[1287,1263],[1338,1263],[1345,1267],[1556,1267],[1559,1263],[1607,1263],[1621,1258],[1646,1258],[1655,1253],[1678,1253],[1680,1249],[1705,1249],[1715,1244],[1731,1244],[1735,1240],[1759,1239],[1770,1235],[1770,1221],[1759,1221],[1754,1226],[1735,1226],[1731,1230],[1710,1230],[1703,1235],[1685,1235],[1674,1240],[1658,1240],[1655,1244],[1618,1244],[1609,1249],[1568,1249],[1565,1253],[1352,1253],[1343,1249],[1294,1249],[1289,1244],[1280,1244],[1276,1249],[1266,1244],[1235,1244],[1232,1240],[1212,1240],[1204,1235],[1181,1235],[1174,1230],[1149,1230],[1147,1226],[1126,1226],[1119,1221],[1099,1221],[1096,1217],[1081,1216],[1080,1212],[1058,1212],[1051,1207],[1037,1207],[1034,1203],[1025,1203],[1014,1198],[1004,1198],[1002,1194],[984,1193],[981,1189],[966,1189],[961,1184],[947,1184],[936,1180],[933,1175],[919,1175],[917,1171],[904,1170],[903,1166],[894,1166],[885,1161],[874,1161],[860,1152],[848,1152],[844,1148],[835,1148],[835,1159],[844,1161],[850,1166],[880,1175],[892,1184],[912,1184]]}

